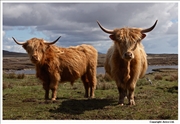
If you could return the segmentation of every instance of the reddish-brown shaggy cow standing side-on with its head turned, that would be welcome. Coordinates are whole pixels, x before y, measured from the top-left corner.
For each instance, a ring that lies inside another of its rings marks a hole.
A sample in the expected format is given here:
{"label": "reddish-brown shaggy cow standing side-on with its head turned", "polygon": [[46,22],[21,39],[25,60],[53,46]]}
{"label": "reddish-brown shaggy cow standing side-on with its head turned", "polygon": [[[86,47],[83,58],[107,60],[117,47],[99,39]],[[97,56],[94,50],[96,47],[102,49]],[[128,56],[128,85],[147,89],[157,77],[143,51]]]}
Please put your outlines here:
{"label": "reddish-brown shaggy cow standing side-on with its head turned", "polygon": [[[60,37],[59,37],[60,38]],[[85,87],[85,97],[94,97],[96,88],[97,51],[90,45],[62,48],[45,42],[43,39],[32,38],[26,42],[13,40],[27,51],[36,67],[36,77],[42,80],[45,99],[56,100],[59,82],[69,81],[71,84],[81,78]],[[90,94],[89,94],[90,91]]]}

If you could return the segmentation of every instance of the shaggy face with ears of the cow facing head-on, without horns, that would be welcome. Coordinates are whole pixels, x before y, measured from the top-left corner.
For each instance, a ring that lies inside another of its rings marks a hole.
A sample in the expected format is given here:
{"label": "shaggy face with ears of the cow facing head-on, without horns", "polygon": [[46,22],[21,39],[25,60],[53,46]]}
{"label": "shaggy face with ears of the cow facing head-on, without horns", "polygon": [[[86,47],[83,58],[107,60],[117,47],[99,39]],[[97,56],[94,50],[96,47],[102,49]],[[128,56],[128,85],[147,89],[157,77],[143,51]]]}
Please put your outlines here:
{"label": "shaggy face with ears of the cow facing head-on, without horns", "polygon": [[109,37],[114,41],[121,58],[127,61],[133,59],[137,45],[146,35],[140,29],[133,28],[115,29],[113,32]]}

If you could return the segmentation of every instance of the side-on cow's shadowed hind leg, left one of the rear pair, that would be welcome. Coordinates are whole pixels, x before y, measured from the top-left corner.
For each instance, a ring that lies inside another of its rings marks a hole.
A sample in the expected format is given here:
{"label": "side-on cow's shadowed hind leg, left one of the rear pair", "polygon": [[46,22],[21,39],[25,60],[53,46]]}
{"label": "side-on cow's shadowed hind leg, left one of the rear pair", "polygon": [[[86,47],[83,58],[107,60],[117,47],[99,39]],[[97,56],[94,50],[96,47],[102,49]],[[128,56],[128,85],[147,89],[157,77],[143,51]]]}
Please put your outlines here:
{"label": "side-on cow's shadowed hind leg, left one of the rear pair", "polygon": [[85,97],[85,98],[88,98],[88,97],[89,97],[89,81],[88,81],[88,79],[87,79],[87,76],[86,76],[86,75],[83,75],[83,76],[81,77],[81,80],[82,80],[82,82],[83,82],[83,84],[84,84],[84,88],[85,88],[85,95],[84,95],[84,97]]}

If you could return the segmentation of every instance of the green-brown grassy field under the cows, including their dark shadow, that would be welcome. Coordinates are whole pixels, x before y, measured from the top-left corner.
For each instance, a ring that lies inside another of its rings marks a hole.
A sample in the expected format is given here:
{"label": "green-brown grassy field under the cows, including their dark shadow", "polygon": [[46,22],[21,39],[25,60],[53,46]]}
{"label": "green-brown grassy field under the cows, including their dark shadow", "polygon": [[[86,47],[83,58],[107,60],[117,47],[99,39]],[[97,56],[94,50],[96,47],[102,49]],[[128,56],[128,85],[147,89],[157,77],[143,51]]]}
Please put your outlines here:
{"label": "green-brown grassy field under the cows, including their dark shadow", "polygon": [[84,87],[77,80],[73,86],[59,84],[57,100],[45,102],[35,75],[4,73],[3,120],[178,120],[177,70],[161,70],[140,79],[135,106],[119,106],[115,82],[104,75],[97,79],[94,99],[83,98]]}

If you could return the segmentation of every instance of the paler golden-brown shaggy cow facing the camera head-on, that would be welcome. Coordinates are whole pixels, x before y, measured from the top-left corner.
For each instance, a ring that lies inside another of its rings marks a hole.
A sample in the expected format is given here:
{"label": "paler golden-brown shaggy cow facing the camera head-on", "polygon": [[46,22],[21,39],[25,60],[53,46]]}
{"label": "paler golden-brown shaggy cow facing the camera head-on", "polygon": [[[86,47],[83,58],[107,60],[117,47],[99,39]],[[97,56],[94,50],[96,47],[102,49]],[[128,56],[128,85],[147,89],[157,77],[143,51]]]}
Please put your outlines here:
{"label": "paler golden-brown shaggy cow facing the camera head-on", "polygon": [[114,41],[113,46],[107,52],[105,61],[105,70],[112,79],[115,80],[119,91],[119,104],[124,104],[124,98],[129,92],[128,99],[130,105],[135,105],[134,90],[136,82],[143,77],[147,70],[147,58],[144,47],[141,43],[156,26],[155,24],[148,29],[140,28],[121,28],[109,30],[99,27]]}

